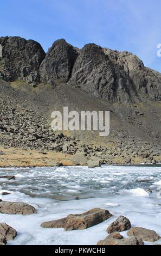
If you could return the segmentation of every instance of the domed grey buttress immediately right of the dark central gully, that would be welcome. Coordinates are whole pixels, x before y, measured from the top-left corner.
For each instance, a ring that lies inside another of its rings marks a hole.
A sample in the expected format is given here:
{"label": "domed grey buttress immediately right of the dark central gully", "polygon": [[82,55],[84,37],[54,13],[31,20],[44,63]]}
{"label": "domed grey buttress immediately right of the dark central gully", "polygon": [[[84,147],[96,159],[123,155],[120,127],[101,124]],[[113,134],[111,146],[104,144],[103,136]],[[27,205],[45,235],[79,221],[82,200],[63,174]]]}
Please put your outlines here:
{"label": "domed grey buttress immediately right of the dark central gully", "polygon": [[98,45],[87,44],[82,48],[74,64],[69,82],[96,97],[106,100],[117,99],[117,89],[119,90],[119,88],[114,89],[115,72],[112,63]]}

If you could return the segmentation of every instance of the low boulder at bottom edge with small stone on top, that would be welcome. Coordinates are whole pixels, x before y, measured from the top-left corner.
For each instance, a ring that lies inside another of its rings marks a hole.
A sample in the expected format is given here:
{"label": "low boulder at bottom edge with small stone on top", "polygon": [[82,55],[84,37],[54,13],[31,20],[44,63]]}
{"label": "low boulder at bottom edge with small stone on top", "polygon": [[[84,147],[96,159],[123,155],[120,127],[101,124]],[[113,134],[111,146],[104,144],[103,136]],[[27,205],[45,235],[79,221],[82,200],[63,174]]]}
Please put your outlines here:
{"label": "low boulder at bottom edge with small stone on top", "polygon": [[124,238],[118,232],[114,232],[100,240],[97,245],[144,245],[144,242],[137,237]]}

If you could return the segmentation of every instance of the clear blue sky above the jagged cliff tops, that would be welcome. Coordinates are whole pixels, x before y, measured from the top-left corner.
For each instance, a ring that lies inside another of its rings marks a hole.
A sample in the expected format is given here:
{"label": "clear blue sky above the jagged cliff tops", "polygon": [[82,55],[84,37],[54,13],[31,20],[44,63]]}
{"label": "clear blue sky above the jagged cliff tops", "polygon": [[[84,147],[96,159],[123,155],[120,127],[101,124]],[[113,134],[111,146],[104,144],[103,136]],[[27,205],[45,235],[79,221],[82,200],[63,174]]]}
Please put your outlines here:
{"label": "clear blue sky above the jagged cliff tops", "polygon": [[1,0],[0,36],[34,39],[47,51],[65,38],[78,47],[88,42],[137,54],[161,72],[160,0]]}

